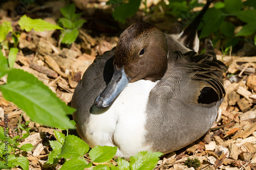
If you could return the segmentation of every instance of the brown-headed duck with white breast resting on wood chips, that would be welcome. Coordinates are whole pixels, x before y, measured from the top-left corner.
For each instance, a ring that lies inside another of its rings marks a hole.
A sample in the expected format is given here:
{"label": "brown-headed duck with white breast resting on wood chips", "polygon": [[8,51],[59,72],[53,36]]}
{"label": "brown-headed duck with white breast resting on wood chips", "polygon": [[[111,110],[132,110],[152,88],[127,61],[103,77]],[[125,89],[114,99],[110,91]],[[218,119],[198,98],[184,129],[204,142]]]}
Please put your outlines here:
{"label": "brown-headed duck with white breast resting on wood chips", "polygon": [[137,22],[96,57],[71,101],[76,130],[90,148],[118,147],[114,158],[129,160],[140,151],[179,150],[208,132],[225,95],[225,65],[208,39],[205,53],[195,52],[195,32],[175,37]]}

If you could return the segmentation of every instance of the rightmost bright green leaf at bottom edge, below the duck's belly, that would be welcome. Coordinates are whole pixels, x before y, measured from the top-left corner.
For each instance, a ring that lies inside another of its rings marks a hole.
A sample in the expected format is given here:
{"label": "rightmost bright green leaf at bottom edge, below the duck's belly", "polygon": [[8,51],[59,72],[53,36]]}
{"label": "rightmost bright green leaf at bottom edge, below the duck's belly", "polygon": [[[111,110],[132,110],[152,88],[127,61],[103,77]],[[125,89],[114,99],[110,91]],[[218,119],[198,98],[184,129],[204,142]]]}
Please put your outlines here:
{"label": "rightmost bright green leaf at bottom edge, below the duck's belly", "polygon": [[131,170],[153,169],[162,155],[160,152],[138,152],[135,156],[131,156],[130,168]]}

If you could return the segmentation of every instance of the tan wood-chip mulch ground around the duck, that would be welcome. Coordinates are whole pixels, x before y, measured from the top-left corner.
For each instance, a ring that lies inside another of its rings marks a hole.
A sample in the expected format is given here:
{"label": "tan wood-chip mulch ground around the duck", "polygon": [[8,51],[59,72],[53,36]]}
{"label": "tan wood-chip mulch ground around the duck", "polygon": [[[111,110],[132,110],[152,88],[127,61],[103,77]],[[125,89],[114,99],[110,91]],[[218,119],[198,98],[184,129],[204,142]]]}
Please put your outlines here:
{"label": "tan wood-chip mulch ground around the duck", "polygon": [[[14,17],[11,12],[16,8],[15,1],[13,2],[7,1],[2,4],[0,23],[11,21],[13,28],[20,31],[17,25],[18,17]],[[44,5],[48,8],[42,10],[39,8],[40,5],[32,5],[25,10],[25,13],[34,16],[33,18],[36,15],[56,23],[56,18],[60,17],[58,9],[64,4],[45,2]],[[126,25],[121,26],[111,18],[111,9],[104,6],[104,1],[100,3],[92,1],[84,6],[87,10],[82,13],[83,16],[87,16],[85,19],[88,22],[79,30],[79,37],[75,43],[59,46],[58,31],[23,32],[20,35],[19,52],[14,65],[15,68],[28,71],[44,82],[68,105],[83,72],[96,56],[111,50],[116,45],[121,32],[117,30],[122,27],[124,29],[129,23],[138,20],[133,17]],[[94,8],[95,6],[97,8]],[[141,17],[147,19],[148,16]],[[164,26],[169,27],[169,25],[165,24],[164,17],[161,19],[156,21],[157,26],[165,30]],[[106,21],[108,23],[105,23]],[[173,29],[170,29],[170,32],[173,32]],[[11,42],[11,36],[8,38]],[[243,46],[241,49],[243,50]],[[244,51],[246,50],[248,49]],[[2,51],[6,56],[9,53],[7,50]],[[228,70],[224,73],[226,95],[220,106],[216,123],[201,139],[162,157],[155,169],[194,169],[184,165],[188,156],[200,160],[201,166],[197,169],[256,169],[256,57],[239,57],[231,54],[223,56],[218,49],[216,53],[218,59],[228,66]],[[0,85],[5,83],[6,77],[3,77]],[[18,128],[17,123],[22,113],[23,111],[13,103],[6,101],[0,92],[0,119],[2,121],[4,114],[8,114],[11,137],[18,134],[15,129]],[[28,120],[30,118],[24,113],[22,124]],[[0,126],[3,125],[4,122],[0,122]],[[28,158],[30,169],[59,169],[63,160],[54,165],[46,164],[48,154],[52,151],[49,140],[56,140],[54,128],[43,127],[34,122],[29,126],[30,136],[20,144],[32,143],[35,146],[32,152],[22,153]],[[22,133],[20,130],[19,132]]]}

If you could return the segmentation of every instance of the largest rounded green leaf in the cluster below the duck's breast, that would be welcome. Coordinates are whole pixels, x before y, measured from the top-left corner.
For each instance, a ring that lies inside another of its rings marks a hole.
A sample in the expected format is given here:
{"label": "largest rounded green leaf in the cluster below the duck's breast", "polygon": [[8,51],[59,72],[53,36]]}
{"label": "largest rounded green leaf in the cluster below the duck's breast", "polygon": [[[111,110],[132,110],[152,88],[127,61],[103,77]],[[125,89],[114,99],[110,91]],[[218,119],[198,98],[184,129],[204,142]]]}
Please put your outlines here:
{"label": "largest rounded green leaf in the cluster below the duck's breast", "polygon": [[89,149],[89,145],[82,139],[74,135],[69,135],[65,138],[59,156],[64,158],[78,158],[86,154]]}

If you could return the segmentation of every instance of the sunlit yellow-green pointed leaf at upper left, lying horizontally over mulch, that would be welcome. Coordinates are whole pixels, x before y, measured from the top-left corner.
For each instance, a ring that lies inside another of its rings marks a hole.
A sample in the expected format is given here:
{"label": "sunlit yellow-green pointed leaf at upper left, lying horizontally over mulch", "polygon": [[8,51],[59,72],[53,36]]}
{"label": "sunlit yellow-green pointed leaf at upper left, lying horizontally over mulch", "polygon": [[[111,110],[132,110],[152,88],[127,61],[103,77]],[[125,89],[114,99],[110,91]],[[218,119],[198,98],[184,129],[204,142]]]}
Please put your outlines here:
{"label": "sunlit yellow-green pointed leaf at upper left, lying horizontally over mulch", "polygon": [[18,21],[18,25],[22,30],[25,29],[27,32],[31,31],[32,29],[34,29],[35,31],[63,30],[61,27],[51,24],[49,22],[46,22],[45,20],[31,19],[26,15],[23,15],[22,17],[20,17]]}

